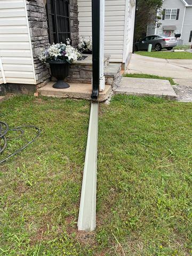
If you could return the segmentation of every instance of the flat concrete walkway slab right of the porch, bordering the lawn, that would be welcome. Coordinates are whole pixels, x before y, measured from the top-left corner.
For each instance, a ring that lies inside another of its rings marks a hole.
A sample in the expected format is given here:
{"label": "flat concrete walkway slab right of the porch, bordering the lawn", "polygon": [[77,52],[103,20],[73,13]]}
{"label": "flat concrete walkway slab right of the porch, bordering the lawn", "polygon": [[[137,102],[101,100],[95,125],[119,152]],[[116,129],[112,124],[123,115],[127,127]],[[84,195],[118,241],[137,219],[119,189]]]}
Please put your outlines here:
{"label": "flat concrete walkway slab right of the porch, bordering the lawn", "polygon": [[114,93],[177,99],[170,82],[161,79],[123,77]]}

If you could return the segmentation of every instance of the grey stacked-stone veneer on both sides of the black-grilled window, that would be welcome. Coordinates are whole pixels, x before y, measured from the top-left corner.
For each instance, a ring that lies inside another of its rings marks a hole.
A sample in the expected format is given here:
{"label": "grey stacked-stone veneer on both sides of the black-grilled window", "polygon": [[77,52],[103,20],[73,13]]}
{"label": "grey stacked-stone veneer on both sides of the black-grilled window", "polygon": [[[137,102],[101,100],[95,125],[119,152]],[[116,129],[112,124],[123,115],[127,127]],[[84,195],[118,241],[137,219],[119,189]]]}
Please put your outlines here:
{"label": "grey stacked-stone veneer on both sides of the black-grilled window", "polygon": [[[38,51],[49,45],[49,33],[46,15],[46,0],[26,0],[31,44],[33,48],[37,87],[50,81],[49,65],[38,60]],[[78,6],[77,0],[69,0],[70,36],[73,46],[78,44]]]}

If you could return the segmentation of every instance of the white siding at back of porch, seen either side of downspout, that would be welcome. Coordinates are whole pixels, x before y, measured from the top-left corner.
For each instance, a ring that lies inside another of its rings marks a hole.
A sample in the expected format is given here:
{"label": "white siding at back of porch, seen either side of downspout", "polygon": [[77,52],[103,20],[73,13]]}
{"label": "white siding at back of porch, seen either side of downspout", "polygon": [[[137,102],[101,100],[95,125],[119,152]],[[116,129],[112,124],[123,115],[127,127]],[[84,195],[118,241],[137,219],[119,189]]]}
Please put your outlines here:
{"label": "white siding at back of porch, seen either side of downspout", "polygon": [[[128,0],[127,0],[128,1]],[[79,35],[92,35],[91,0],[78,0]],[[105,54],[122,62],[124,49],[125,0],[105,1]]]}

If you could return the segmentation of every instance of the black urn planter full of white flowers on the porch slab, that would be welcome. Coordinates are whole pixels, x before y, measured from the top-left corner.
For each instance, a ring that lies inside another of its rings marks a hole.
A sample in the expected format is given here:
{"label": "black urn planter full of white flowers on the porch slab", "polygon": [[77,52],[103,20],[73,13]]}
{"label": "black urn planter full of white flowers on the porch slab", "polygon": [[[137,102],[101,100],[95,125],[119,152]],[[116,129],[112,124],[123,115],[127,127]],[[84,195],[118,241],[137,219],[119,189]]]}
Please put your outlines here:
{"label": "black urn planter full of white flowers on the porch slab", "polygon": [[53,84],[53,88],[65,89],[69,87],[64,79],[69,74],[70,63],[81,58],[81,53],[71,46],[70,39],[67,39],[67,44],[52,44],[47,48],[40,49],[38,58],[50,64],[51,74],[58,80]]}

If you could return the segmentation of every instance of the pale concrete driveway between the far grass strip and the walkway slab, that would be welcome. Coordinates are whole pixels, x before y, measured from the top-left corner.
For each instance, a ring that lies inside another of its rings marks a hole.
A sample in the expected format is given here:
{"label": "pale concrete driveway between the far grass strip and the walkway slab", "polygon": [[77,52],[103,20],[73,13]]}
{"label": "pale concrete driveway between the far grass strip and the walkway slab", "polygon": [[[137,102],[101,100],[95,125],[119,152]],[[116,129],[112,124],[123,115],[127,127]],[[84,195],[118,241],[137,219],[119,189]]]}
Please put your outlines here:
{"label": "pale concrete driveway between the far grass strip and the walkway slab", "polygon": [[134,53],[126,72],[192,79],[192,60],[159,59]]}

